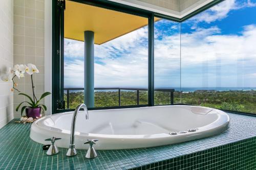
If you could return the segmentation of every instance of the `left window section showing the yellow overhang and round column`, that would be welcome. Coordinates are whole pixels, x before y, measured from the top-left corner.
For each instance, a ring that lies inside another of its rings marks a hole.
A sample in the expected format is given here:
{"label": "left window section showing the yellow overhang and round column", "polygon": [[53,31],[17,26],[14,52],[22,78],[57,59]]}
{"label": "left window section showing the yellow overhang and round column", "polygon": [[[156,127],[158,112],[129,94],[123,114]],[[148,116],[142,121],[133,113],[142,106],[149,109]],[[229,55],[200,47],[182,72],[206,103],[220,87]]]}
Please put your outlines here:
{"label": "left window section showing the yellow overhang and round column", "polygon": [[94,33],[94,72],[90,73],[94,106],[90,107],[147,105],[148,19],[75,2],[67,2],[64,18],[65,108],[87,102],[86,31]]}

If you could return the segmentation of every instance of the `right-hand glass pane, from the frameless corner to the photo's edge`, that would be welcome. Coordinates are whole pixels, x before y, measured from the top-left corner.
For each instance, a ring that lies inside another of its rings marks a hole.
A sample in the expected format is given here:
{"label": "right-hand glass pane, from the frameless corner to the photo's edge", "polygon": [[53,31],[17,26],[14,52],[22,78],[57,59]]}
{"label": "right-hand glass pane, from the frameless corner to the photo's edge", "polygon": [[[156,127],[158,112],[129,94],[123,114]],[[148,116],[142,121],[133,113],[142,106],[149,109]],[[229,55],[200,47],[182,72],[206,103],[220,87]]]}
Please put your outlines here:
{"label": "right-hand glass pane, from the frameless corner to the photo's edge", "polygon": [[182,22],[182,103],[256,113],[256,4],[224,1]]}

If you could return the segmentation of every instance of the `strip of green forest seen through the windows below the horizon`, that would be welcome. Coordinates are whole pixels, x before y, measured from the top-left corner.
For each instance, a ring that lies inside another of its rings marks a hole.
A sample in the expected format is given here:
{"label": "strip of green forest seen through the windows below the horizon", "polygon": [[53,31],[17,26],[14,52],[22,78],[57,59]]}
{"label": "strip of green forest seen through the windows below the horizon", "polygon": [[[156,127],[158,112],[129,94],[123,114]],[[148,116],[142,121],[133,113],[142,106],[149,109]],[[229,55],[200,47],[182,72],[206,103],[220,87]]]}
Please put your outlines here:
{"label": "strip of green forest seen through the windows below the horizon", "polygon": [[[67,93],[64,94],[67,108]],[[118,106],[118,91],[95,91],[95,107]],[[82,91],[70,91],[69,108],[83,103]],[[232,111],[256,113],[256,90],[196,90],[174,92],[175,104],[190,104]],[[139,92],[139,104],[147,104],[147,91]],[[169,92],[155,92],[155,105],[170,104]],[[121,106],[137,105],[136,91],[121,91]]]}

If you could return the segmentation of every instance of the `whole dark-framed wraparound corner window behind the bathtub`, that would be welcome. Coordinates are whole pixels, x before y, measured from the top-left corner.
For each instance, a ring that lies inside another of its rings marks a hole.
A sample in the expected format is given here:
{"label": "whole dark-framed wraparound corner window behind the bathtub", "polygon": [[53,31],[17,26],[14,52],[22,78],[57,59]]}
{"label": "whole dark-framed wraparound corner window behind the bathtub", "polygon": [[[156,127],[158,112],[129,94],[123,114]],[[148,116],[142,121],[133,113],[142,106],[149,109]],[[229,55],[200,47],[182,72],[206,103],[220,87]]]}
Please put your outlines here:
{"label": "whole dark-framed wraparound corner window behind the bathtub", "polygon": [[256,113],[255,0],[226,0],[183,22],[108,2],[66,3],[54,30],[62,39],[56,34],[53,46],[57,54],[62,47],[53,58],[55,108],[90,96],[100,109],[188,104]]}

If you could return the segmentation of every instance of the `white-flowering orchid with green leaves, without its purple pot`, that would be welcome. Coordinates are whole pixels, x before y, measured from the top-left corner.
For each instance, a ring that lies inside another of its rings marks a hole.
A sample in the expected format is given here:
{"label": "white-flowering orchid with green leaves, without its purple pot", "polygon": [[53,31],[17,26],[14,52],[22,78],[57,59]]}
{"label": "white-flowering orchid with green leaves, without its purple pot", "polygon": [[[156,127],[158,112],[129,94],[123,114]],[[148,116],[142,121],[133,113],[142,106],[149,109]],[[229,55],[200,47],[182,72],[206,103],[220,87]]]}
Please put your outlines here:
{"label": "white-flowering orchid with green leaves, without its purple pot", "polygon": [[18,79],[19,78],[23,78],[25,76],[25,74],[28,74],[30,75],[31,77],[31,83],[32,83],[32,91],[33,91],[33,97],[31,98],[31,96],[29,96],[28,94],[25,94],[25,93],[19,93],[18,95],[24,95],[28,98],[29,101],[25,101],[25,102],[22,102],[20,103],[17,107],[16,107],[16,111],[18,111],[18,109],[20,108],[20,106],[22,106],[23,103],[27,104],[26,106],[23,106],[22,109],[21,109],[21,115],[23,116],[23,112],[26,108],[41,108],[42,111],[46,111],[47,110],[47,107],[43,104],[40,104],[40,101],[42,99],[44,99],[47,95],[51,94],[50,92],[44,92],[42,93],[42,95],[40,96],[40,99],[37,100],[36,98],[36,95],[35,95],[35,91],[34,91],[34,82],[33,82],[33,74],[34,73],[39,73],[39,70],[36,68],[36,66],[34,64],[27,64],[27,65],[24,65],[24,64],[16,64],[14,65],[13,68],[10,68],[9,71],[8,71],[8,74],[2,76],[2,80],[3,81],[11,81],[13,83],[12,85],[12,88],[11,88],[11,91],[18,91],[20,92],[18,89],[17,89],[17,83],[14,82],[14,78],[17,77]]}

